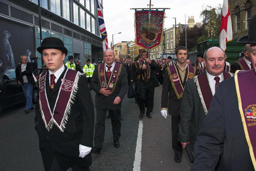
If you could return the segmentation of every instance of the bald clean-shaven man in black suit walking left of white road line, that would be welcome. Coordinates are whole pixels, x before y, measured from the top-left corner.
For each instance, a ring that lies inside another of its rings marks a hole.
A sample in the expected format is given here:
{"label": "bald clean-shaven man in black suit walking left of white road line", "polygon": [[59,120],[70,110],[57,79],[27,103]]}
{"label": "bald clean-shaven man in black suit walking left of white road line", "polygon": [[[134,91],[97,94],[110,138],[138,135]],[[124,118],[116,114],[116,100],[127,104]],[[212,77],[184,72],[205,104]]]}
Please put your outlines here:
{"label": "bald clean-shaven man in black suit walking left of white road line", "polygon": [[126,68],[121,63],[114,62],[114,52],[111,49],[104,51],[105,63],[95,67],[90,87],[96,92],[96,125],[94,147],[92,152],[100,154],[105,136],[105,118],[109,110],[111,117],[114,147],[119,147],[121,136],[120,109],[122,99],[128,89]]}

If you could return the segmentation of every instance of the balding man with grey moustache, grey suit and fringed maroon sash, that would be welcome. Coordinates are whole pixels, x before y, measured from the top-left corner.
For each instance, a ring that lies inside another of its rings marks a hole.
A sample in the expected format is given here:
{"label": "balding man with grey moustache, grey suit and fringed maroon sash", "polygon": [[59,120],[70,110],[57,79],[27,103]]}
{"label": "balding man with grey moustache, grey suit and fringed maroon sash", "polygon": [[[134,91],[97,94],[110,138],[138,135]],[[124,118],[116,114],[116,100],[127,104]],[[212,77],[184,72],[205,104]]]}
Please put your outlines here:
{"label": "balding man with grey moustache, grey suit and fringed maroon sash", "polygon": [[225,52],[221,48],[207,49],[204,52],[204,59],[206,71],[186,82],[180,105],[178,140],[182,148],[190,142],[192,151],[194,151],[198,131],[215,94],[215,85],[232,76],[224,71]]}

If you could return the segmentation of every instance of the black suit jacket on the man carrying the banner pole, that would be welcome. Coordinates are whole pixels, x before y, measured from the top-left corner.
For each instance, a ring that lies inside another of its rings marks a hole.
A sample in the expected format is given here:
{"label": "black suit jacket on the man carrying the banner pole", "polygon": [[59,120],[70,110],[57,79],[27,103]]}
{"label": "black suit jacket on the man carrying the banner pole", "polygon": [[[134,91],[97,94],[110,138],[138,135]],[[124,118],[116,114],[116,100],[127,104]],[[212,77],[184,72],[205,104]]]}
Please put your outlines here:
{"label": "black suit jacket on the man carrying the banner pole", "polygon": [[[151,66],[150,68],[150,78],[148,80],[148,84],[154,88],[154,87],[158,87],[159,86],[159,83],[158,83],[158,80],[157,80],[157,77],[154,73],[155,70],[158,69],[158,66],[157,64],[154,62],[154,60],[151,61],[151,64],[149,64]],[[136,74],[137,75],[141,75],[144,73],[144,70],[142,68],[138,68],[137,71],[136,71]],[[140,76],[140,78],[142,78],[142,76]],[[144,80],[140,80],[141,82],[144,82]]]}

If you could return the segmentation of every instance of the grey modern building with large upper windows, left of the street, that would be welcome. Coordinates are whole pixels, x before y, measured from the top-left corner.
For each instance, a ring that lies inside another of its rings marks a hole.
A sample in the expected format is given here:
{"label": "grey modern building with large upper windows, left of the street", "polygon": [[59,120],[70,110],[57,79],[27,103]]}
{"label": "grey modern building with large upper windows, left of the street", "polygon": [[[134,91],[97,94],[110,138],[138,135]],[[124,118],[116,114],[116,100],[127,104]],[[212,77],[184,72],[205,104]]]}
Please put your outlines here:
{"label": "grey modern building with large upper windows, left of the street", "polygon": [[[12,54],[15,66],[20,55],[27,54],[34,66],[41,67],[38,0],[0,0],[1,61]],[[42,39],[58,37],[68,54],[81,60],[102,60],[103,48],[99,32],[96,0],[41,0]],[[2,44],[2,43],[1,43]],[[6,66],[6,65],[2,65]]]}

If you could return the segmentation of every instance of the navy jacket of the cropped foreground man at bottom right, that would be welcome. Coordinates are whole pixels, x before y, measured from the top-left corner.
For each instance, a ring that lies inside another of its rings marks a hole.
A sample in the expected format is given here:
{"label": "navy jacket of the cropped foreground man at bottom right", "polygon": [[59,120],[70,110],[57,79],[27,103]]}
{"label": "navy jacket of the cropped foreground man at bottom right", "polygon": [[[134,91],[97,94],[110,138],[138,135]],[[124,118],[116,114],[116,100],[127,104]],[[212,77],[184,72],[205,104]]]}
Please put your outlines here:
{"label": "navy jacket of the cropped foreground man at bottom right", "polygon": [[[219,162],[219,163],[218,163]],[[254,171],[234,77],[218,85],[195,142],[193,171]]]}

